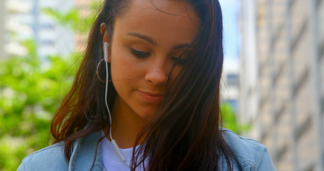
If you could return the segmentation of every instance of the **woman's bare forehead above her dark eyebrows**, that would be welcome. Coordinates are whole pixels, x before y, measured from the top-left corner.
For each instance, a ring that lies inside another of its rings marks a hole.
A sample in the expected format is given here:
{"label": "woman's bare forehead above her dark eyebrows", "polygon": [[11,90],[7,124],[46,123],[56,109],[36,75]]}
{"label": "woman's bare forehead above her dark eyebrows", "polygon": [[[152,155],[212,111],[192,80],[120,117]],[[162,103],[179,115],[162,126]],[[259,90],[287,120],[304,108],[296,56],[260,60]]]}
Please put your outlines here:
{"label": "woman's bare forehead above her dark eyebrows", "polygon": [[186,1],[132,0],[126,12],[115,19],[114,34],[138,32],[152,37],[158,45],[190,42],[198,33],[200,22],[195,9]]}

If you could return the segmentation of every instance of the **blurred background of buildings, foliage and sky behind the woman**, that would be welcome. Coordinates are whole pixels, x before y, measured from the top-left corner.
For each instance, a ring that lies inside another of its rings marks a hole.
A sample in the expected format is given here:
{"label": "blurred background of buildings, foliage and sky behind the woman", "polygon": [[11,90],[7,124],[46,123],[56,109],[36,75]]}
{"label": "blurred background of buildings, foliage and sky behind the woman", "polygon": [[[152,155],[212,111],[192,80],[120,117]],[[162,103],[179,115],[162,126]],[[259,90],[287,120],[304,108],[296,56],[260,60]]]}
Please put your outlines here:
{"label": "blurred background of buildings, foliage and sky behind the woman", "polygon": [[[224,127],[278,171],[324,171],[324,0],[220,0]],[[0,1],[0,171],[51,144],[99,0]]]}

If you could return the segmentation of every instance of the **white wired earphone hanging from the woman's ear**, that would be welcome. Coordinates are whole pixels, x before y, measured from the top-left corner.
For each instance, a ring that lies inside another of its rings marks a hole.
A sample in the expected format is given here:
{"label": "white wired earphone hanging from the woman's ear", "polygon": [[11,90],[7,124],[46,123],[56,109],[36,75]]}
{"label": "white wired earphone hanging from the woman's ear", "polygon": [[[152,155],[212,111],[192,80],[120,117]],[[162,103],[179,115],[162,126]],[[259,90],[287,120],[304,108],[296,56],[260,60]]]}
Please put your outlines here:
{"label": "white wired earphone hanging from the woman's ear", "polygon": [[110,110],[107,104],[107,89],[108,89],[108,46],[109,44],[107,42],[104,42],[104,58],[105,58],[105,62],[106,62],[106,93],[105,93],[105,102],[106,102],[106,107],[109,113],[109,135],[110,135],[110,139],[111,139],[111,143],[112,145],[115,147],[116,152],[118,153],[119,157],[121,158],[121,161],[123,161],[126,165],[130,166],[127,162],[126,159],[124,157],[124,155],[121,153],[116,141],[114,139],[112,139],[111,136],[111,115],[110,115]]}

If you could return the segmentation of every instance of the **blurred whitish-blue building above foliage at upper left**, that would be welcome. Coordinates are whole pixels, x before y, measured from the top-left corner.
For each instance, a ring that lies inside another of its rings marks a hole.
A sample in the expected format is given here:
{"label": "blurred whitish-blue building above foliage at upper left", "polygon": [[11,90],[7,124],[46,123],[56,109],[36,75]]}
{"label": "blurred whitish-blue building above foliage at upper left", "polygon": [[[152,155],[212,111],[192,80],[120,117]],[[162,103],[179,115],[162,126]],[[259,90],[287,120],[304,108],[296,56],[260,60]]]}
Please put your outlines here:
{"label": "blurred whitish-blue building above foliage at upper left", "polygon": [[[37,52],[43,58],[48,55],[66,55],[74,50],[74,33],[42,12],[44,8],[66,12],[73,7],[73,1],[65,0],[4,0],[0,11],[0,45],[4,42],[1,56],[25,55],[21,42],[34,39]],[[62,5],[64,4],[64,5]]]}

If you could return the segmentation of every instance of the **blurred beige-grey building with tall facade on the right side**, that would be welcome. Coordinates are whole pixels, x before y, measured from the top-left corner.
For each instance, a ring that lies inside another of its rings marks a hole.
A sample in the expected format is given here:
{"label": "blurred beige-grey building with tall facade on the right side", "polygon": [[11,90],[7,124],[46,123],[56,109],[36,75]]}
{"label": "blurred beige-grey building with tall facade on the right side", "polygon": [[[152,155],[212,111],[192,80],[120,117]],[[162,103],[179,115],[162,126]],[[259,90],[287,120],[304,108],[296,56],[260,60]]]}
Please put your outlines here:
{"label": "blurred beige-grey building with tall facade on the right side", "polygon": [[278,171],[324,170],[324,0],[242,0],[240,120]]}

